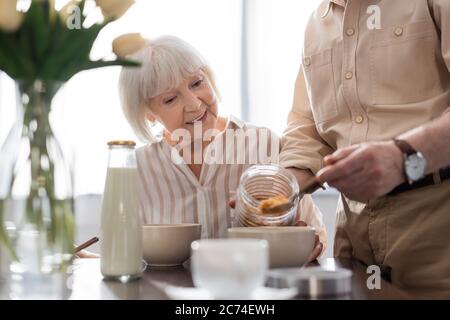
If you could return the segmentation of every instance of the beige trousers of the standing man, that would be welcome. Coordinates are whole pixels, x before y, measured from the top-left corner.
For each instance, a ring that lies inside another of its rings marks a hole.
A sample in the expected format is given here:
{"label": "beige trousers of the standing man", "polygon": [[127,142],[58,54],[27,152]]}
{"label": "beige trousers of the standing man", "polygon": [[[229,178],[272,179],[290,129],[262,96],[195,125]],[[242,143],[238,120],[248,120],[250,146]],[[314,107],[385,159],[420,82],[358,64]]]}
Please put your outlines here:
{"label": "beige trousers of the standing man", "polygon": [[341,197],[337,214],[335,255],[390,270],[405,289],[450,298],[450,180],[368,204]]}

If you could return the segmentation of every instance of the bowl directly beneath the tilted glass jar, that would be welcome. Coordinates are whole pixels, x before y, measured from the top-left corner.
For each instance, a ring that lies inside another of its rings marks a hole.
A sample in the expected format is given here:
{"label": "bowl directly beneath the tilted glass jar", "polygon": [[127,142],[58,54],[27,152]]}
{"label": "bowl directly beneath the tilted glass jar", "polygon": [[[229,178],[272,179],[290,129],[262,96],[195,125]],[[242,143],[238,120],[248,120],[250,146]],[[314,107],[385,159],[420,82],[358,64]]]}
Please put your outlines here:
{"label": "bowl directly beneath the tilted glass jar", "polygon": [[314,249],[315,230],[311,227],[230,228],[228,237],[267,240],[270,268],[290,268],[308,262]]}

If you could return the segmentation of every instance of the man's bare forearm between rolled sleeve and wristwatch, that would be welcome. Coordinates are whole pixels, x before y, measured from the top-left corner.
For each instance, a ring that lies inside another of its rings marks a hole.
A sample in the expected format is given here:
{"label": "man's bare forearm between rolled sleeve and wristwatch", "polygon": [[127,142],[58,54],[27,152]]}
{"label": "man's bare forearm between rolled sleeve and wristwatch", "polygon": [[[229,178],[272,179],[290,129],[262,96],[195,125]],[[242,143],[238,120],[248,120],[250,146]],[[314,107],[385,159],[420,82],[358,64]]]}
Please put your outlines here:
{"label": "man's bare forearm between rolled sleeve and wristwatch", "polygon": [[398,137],[427,159],[427,173],[450,166],[450,109],[441,117]]}

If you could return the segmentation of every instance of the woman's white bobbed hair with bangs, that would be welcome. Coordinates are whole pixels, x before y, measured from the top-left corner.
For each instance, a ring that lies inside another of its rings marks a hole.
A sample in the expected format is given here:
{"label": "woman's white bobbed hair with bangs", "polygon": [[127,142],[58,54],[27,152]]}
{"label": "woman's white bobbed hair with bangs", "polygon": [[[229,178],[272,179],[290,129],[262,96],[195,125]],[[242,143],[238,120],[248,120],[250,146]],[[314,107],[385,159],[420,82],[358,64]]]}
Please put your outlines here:
{"label": "woman's white bobbed hair with bangs", "polygon": [[168,90],[176,88],[185,78],[202,70],[218,98],[214,74],[206,60],[187,42],[174,36],[163,36],[136,53],[127,56],[142,65],[123,68],[119,79],[122,109],[138,138],[144,142],[157,140],[146,118],[148,103]]}

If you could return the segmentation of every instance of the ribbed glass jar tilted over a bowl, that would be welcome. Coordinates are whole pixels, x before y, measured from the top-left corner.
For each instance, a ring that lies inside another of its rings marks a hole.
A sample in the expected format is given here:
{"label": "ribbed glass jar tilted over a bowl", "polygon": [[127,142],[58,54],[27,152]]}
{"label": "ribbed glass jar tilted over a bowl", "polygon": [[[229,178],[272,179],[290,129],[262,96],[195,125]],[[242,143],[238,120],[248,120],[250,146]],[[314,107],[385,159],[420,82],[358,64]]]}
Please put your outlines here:
{"label": "ribbed glass jar tilted over a bowl", "polygon": [[[236,198],[235,219],[238,226],[290,226],[295,223],[299,186],[288,170],[277,165],[255,165],[241,176]],[[292,206],[281,212],[262,214],[263,200],[284,196]]]}

